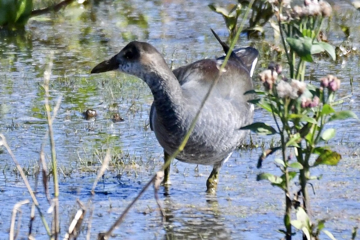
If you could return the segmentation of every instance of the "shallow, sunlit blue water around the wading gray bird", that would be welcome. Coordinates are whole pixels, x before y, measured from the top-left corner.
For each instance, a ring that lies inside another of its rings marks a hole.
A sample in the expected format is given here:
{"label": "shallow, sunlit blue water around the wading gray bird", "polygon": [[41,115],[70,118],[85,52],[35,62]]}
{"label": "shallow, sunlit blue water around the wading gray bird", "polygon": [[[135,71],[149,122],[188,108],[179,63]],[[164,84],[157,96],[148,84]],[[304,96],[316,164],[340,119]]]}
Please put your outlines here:
{"label": "shallow, sunlit blue water around the wading gray bird", "polygon": [[[91,239],[108,230],[127,204],[139,193],[151,176],[161,168],[162,149],[149,129],[149,108],[152,96],[141,80],[124,74],[108,72],[90,75],[96,63],[117,53],[127,42],[142,40],[153,44],[176,67],[201,58],[221,55],[219,44],[209,28],[220,37],[227,35],[223,19],[210,12],[210,1],[104,1],[90,6],[69,6],[59,15],[32,19],[24,35],[1,36],[0,39],[0,132],[6,136],[21,166],[28,172],[28,180],[36,188],[36,169],[41,144],[47,131],[44,113],[43,73],[54,52],[50,95],[55,105],[62,97],[54,122],[54,137],[60,176],[61,236],[78,208],[76,199],[87,203],[89,211],[84,229],[78,239],[86,239],[87,224],[91,222]],[[141,6],[135,7],[135,6]],[[335,19],[329,40],[339,44],[345,37],[336,24],[358,21],[359,13],[342,3],[335,9],[349,9],[348,20]],[[339,13],[340,14],[340,13]],[[350,44],[359,46],[354,32]],[[337,31],[335,31],[337,30]],[[271,42],[271,30],[265,40],[240,39],[242,45],[255,45],[262,51]],[[269,59],[260,58],[261,64]],[[324,67],[326,66],[326,67]],[[329,70],[328,70],[329,69]],[[341,96],[351,93],[350,77],[354,78],[354,94],[345,100],[344,109],[359,111],[359,59],[343,58],[338,62],[319,60],[312,65],[309,79],[328,73],[342,78]],[[258,81],[254,78],[255,85]],[[96,120],[87,121],[82,112],[95,109]],[[113,123],[118,112],[125,121]],[[256,110],[255,121],[270,119],[267,113]],[[329,142],[342,154],[338,167],[320,166],[314,175],[323,175],[312,182],[311,194],[314,219],[327,219],[327,229],[338,239],[350,239],[353,226],[359,226],[359,127],[354,120],[334,122],[337,136]],[[252,136],[265,147],[271,138]],[[90,190],[106,150],[111,149],[110,171]],[[49,147],[45,147],[50,159]],[[278,173],[272,160],[262,169],[256,168],[262,149],[235,151],[220,174],[216,198],[204,193],[210,167],[185,164],[177,160],[171,166],[172,185],[161,188],[159,197],[167,215],[161,222],[154,191],[150,188],[136,203],[125,222],[114,232],[123,239],[280,239],[276,232],[282,228],[283,194],[269,183],[257,182],[260,172]],[[50,167],[50,164],[48,164]],[[15,164],[6,150],[0,148],[0,239],[8,239],[10,217],[15,203],[30,199]],[[164,195],[164,193],[167,193]],[[50,193],[53,186],[50,183]],[[46,213],[46,200],[41,180],[37,182],[37,199]],[[27,237],[30,205],[22,207],[19,238]],[[33,232],[37,239],[46,237],[39,217]],[[294,239],[301,239],[297,234]]]}

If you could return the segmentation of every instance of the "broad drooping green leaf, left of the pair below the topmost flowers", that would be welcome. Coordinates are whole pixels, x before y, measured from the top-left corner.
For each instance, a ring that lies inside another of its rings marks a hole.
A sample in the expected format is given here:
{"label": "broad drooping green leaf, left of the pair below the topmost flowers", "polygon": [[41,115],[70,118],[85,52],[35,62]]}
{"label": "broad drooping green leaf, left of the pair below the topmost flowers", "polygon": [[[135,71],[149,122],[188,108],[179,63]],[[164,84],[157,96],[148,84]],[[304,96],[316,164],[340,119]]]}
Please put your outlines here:
{"label": "broad drooping green leaf, left of the pair below the topmost flowers", "polygon": [[288,42],[291,50],[300,56],[302,60],[313,62],[311,57],[312,39],[310,37],[288,37],[286,41]]}

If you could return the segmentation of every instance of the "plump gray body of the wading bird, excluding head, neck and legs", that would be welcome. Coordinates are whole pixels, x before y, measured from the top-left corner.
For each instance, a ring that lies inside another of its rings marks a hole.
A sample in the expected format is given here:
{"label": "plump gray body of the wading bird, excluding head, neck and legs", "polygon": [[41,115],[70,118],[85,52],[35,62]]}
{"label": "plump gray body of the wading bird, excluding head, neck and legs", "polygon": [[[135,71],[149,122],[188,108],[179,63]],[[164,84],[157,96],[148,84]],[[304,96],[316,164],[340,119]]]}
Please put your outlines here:
{"label": "plump gray body of the wading bird, excluding head, neck and legs", "polygon": [[[185,101],[182,119],[172,132],[166,129],[166,123],[158,121],[154,106],[150,113],[157,139],[168,153],[179,146],[204,96],[216,80],[221,63],[222,59],[203,59],[173,71]],[[247,103],[249,96],[244,95],[252,89],[250,71],[241,58],[230,58],[178,159],[213,165],[241,144],[246,131],[239,128],[252,123],[253,119],[253,107]]]}

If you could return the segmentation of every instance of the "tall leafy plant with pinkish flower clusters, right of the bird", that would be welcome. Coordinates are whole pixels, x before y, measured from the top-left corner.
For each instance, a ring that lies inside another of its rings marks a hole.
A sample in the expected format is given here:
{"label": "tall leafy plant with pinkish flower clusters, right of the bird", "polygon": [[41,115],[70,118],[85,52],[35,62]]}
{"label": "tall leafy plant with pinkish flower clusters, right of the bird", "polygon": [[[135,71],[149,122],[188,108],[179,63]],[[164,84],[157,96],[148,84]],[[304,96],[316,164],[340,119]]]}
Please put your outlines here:
{"label": "tall leafy plant with pinkish flower clusters, right of the bird", "polygon": [[[268,69],[259,74],[264,90],[252,90],[247,94],[255,94],[251,103],[267,110],[274,124],[255,122],[242,129],[280,137],[278,146],[265,150],[260,156],[258,167],[267,156],[281,151],[275,164],[282,174],[260,173],[257,180],[268,180],[284,192],[285,229],[279,231],[285,234],[285,239],[290,240],[294,235],[292,227],[302,231],[303,239],[319,239],[320,232],[335,239],[323,229],[324,221],[317,225],[311,221],[308,187],[310,180],[318,177],[312,176],[310,170],[321,164],[335,166],[341,159],[337,151],[324,144],[336,135],[335,128],[325,127],[327,123],[357,119],[357,116],[350,110],[337,110],[336,105],[343,102],[343,99],[336,99],[340,88],[337,77],[323,77],[320,85],[304,81],[306,63],[313,62],[314,54],[326,52],[335,59],[334,47],[318,40],[321,23],[330,16],[332,9],[327,2],[317,0],[305,0],[302,6],[293,7],[290,1],[269,0],[269,3],[277,18],[278,26],[274,28],[281,36],[290,76],[279,77],[282,66],[276,63],[269,64]],[[296,212],[296,219],[292,218],[293,212]]]}

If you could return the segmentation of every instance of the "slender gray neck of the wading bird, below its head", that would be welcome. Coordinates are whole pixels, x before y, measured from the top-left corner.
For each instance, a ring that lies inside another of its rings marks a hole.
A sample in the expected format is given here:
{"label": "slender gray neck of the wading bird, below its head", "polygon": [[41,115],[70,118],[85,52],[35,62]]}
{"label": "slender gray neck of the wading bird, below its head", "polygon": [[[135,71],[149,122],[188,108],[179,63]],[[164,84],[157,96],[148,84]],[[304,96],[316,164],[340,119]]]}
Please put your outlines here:
{"label": "slender gray neck of the wading bird, below its head", "polygon": [[157,117],[168,124],[176,124],[184,108],[183,92],[170,69],[149,72],[144,76],[154,96]]}

